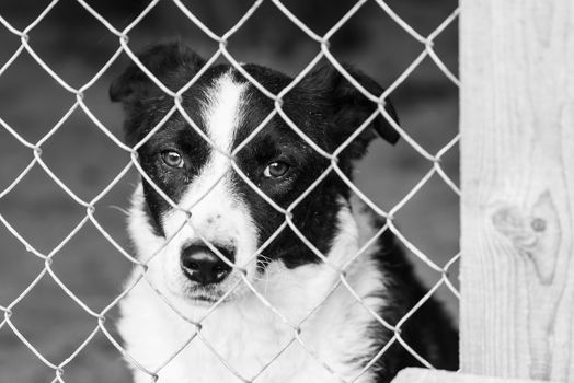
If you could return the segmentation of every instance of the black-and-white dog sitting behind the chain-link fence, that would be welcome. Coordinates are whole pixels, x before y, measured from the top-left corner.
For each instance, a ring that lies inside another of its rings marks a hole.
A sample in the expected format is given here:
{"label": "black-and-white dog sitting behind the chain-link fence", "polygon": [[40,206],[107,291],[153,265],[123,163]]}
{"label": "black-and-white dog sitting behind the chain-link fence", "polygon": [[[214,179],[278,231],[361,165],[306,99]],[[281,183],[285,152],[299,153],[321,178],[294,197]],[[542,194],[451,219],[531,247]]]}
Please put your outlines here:
{"label": "black-and-white dog sitting behind the chain-link fence", "polygon": [[425,289],[341,176],[353,179],[376,137],[400,137],[371,117],[376,103],[322,65],[277,102],[286,118],[269,116],[275,102],[241,72],[273,94],[286,74],[251,63],[204,71],[181,42],[138,59],[173,92],[203,72],[179,98],[187,116],[168,115],[174,97],[135,63],[110,88],[147,175],[128,223],[146,272],[128,279],[117,325],[135,382],[383,383],[421,359],[456,369],[457,332],[437,301],[393,327]]}

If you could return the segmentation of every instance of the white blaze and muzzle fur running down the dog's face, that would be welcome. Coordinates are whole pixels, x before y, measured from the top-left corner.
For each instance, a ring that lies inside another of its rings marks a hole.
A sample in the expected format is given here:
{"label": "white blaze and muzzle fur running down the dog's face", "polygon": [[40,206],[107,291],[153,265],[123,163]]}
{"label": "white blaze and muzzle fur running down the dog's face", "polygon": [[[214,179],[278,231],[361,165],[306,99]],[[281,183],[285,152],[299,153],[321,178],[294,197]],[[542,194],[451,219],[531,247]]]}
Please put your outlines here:
{"label": "white blaze and muzzle fur running down the dog's face", "polygon": [[[207,103],[202,108],[202,118],[207,136],[223,152],[231,152],[234,132],[241,123],[241,103],[245,84],[236,83],[230,73],[218,78],[207,91]],[[206,142],[206,144],[208,144]],[[211,148],[210,156],[198,176],[188,186],[179,205],[192,212],[191,225],[185,224],[186,214],[182,211],[168,211],[162,224],[168,237],[161,265],[163,285],[175,297],[185,299],[187,291],[182,286],[190,283],[181,272],[180,255],[184,246],[202,239],[214,245],[236,248],[236,264],[248,269],[254,278],[255,263],[249,263],[256,252],[256,228],[248,209],[233,195],[230,176],[231,161],[219,150]],[[156,267],[152,265],[150,267]],[[219,285],[219,294],[231,288],[241,278],[240,271],[231,275]],[[244,288],[237,292],[244,291]],[[219,297],[214,297],[219,298]]]}

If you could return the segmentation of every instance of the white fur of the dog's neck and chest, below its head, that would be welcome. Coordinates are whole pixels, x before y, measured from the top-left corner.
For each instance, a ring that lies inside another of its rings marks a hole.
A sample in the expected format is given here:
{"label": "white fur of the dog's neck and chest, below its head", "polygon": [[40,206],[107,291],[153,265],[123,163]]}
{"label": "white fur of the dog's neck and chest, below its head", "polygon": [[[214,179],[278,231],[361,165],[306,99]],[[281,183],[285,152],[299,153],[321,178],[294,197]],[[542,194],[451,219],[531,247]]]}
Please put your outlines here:
{"label": "white fur of the dog's neck and chest, below its head", "polygon": [[[138,211],[144,204],[140,189],[135,195],[130,229],[138,247],[150,244],[151,233]],[[338,214],[341,230],[328,258],[342,265],[356,254],[375,231],[369,220],[360,217],[361,209],[343,208]],[[135,222],[139,221],[139,222]],[[159,241],[158,241],[159,242]],[[141,246],[139,246],[141,245]],[[384,302],[380,298],[383,276],[372,265],[376,247],[369,248],[348,269],[347,280],[356,293],[372,310],[378,311]],[[135,270],[131,279],[139,272]],[[324,264],[286,269],[279,263],[269,265],[263,280],[255,288],[266,300],[294,324],[299,323],[337,281],[338,275]],[[161,280],[150,279],[161,285]],[[129,283],[128,283],[129,285]],[[156,286],[162,290],[161,286]],[[205,307],[165,297],[180,313],[197,320]],[[140,281],[122,301],[119,332],[128,353],[142,367],[154,371],[174,352],[180,350],[194,334],[195,327],[182,320],[146,281]],[[372,340],[366,334],[371,323],[370,314],[341,286],[314,314],[301,325],[300,337],[306,346],[328,363],[337,374],[351,379],[358,374],[356,363],[349,363],[357,355],[372,351]],[[292,338],[291,327],[282,322],[267,306],[254,297],[242,297],[226,302],[202,322],[203,337],[217,353],[239,374],[251,379],[268,363]],[[375,350],[378,351],[378,350]],[[149,382],[148,374],[133,368],[136,383]],[[159,371],[162,383],[231,383],[240,382],[228,368],[195,338],[177,356]],[[297,343],[290,344],[257,379],[257,382],[333,382],[336,381]],[[371,382],[369,372],[357,382]]]}

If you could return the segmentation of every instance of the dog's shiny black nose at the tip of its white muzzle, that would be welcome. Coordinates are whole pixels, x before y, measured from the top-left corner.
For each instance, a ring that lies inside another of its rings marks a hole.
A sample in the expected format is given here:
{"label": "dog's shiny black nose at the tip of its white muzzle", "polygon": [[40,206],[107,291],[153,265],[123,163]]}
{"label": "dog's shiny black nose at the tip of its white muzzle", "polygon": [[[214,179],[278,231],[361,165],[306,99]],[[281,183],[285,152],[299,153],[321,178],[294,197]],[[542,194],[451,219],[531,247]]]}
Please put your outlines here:
{"label": "dog's shiny black nose at the tip of its white muzzle", "polygon": [[[229,248],[215,246],[221,255],[233,263],[233,252]],[[231,266],[225,263],[207,246],[191,245],[184,247],[181,266],[185,275],[202,285],[218,283],[231,271]]]}

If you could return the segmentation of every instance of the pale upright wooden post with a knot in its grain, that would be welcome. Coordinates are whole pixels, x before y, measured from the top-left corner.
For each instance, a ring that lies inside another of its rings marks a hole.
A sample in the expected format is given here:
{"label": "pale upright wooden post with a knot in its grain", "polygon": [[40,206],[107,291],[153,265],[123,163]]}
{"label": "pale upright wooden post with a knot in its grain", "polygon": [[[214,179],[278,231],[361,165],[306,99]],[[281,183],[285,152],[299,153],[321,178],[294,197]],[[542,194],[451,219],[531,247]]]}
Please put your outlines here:
{"label": "pale upright wooden post with a knot in its grain", "polygon": [[461,369],[574,382],[574,1],[462,0]]}

